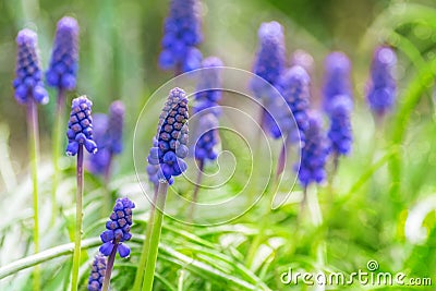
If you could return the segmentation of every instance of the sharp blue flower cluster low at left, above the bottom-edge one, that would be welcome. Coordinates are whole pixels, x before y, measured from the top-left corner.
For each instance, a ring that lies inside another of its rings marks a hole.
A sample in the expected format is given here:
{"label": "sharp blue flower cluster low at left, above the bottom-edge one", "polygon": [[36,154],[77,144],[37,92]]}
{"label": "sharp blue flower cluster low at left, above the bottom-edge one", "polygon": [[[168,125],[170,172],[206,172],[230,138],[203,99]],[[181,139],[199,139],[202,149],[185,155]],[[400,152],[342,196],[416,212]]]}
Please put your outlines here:
{"label": "sharp blue flower cluster low at left, above the bottom-edge one", "polygon": [[130,229],[132,227],[133,208],[135,208],[135,204],[128,197],[117,199],[113,211],[108,222],[106,222],[107,230],[100,234],[104,244],[100,246],[99,251],[105,256],[109,256],[113,247],[117,247],[121,257],[130,255],[130,247],[123,244],[123,242],[132,238]]}

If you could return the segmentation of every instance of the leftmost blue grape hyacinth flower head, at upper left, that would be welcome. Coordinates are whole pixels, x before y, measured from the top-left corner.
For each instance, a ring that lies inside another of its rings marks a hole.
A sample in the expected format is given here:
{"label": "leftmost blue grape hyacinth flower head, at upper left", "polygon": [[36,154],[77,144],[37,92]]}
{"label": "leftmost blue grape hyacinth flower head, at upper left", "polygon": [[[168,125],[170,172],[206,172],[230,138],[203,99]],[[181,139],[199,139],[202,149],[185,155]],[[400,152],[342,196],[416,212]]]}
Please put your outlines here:
{"label": "leftmost blue grape hyacinth flower head, at upper left", "polygon": [[15,99],[20,104],[26,104],[33,98],[38,104],[48,104],[48,93],[41,81],[41,68],[38,52],[38,37],[31,29],[20,31],[16,36],[16,77],[13,81]]}

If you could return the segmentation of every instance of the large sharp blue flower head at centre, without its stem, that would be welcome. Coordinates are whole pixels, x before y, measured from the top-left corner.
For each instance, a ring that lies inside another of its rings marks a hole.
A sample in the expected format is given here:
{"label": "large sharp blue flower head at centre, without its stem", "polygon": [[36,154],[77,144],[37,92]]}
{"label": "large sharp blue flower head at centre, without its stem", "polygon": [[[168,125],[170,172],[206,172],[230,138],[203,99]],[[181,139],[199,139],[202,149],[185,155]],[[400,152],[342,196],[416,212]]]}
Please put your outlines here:
{"label": "large sharp blue flower head at centre, without its stem", "polygon": [[184,90],[170,90],[167,102],[159,117],[157,128],[157,146],[148,155],[148,163],[160,166],[157,169],[158,180],[172,184],[172,177],[186,170],[183,159],[187,156],[187,98]]}

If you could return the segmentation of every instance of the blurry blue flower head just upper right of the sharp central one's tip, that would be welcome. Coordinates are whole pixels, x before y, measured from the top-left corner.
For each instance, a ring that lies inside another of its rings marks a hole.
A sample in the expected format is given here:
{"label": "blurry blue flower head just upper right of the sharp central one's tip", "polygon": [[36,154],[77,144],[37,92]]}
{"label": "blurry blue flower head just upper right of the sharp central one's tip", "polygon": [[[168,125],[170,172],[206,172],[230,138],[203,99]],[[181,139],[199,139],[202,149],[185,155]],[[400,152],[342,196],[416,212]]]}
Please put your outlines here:
{"label": "blurry blue flower head just upper right of the sharp central one's tip", "polygon": [[219,58],[208,57],[204,59],[202,66],[206,70],[203,70],[199,75],[193,111],[197,113],[207,109],[207,112],[213,111],[218,117],[220,110],[217,106],[222,98],[222,90],[219,89],[222,86],[221,70],[219,68],[223,66],[223,64]]}

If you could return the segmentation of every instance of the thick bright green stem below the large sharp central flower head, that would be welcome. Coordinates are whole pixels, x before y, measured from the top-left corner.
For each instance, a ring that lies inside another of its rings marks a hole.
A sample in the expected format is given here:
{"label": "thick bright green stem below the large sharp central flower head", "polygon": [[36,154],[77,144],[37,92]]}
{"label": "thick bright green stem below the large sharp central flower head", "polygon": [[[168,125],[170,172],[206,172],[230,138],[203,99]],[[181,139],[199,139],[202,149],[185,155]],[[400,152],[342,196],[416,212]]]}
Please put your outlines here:
{"label": "thick bright green stem below the large sharp central flower head", "polygon": [[162,219],[164,219],[164,208],[165,202],[167,199],[168,194],[168,183],[159,182],[159,187],[157,191],[157,203],[156,208],[157,213],[155,214],[155,219],[149,221],[152,223],[152,233],[150,233],[150,243],[147,253],[147,265],[145,266],[145,274],[143,280],[143,291],[152,291],[153,289],[153,280],[155,277],[155,268],[156,268],[156,259],[158,253],[158,245],[160,240],[160,232],[162,229]]}

